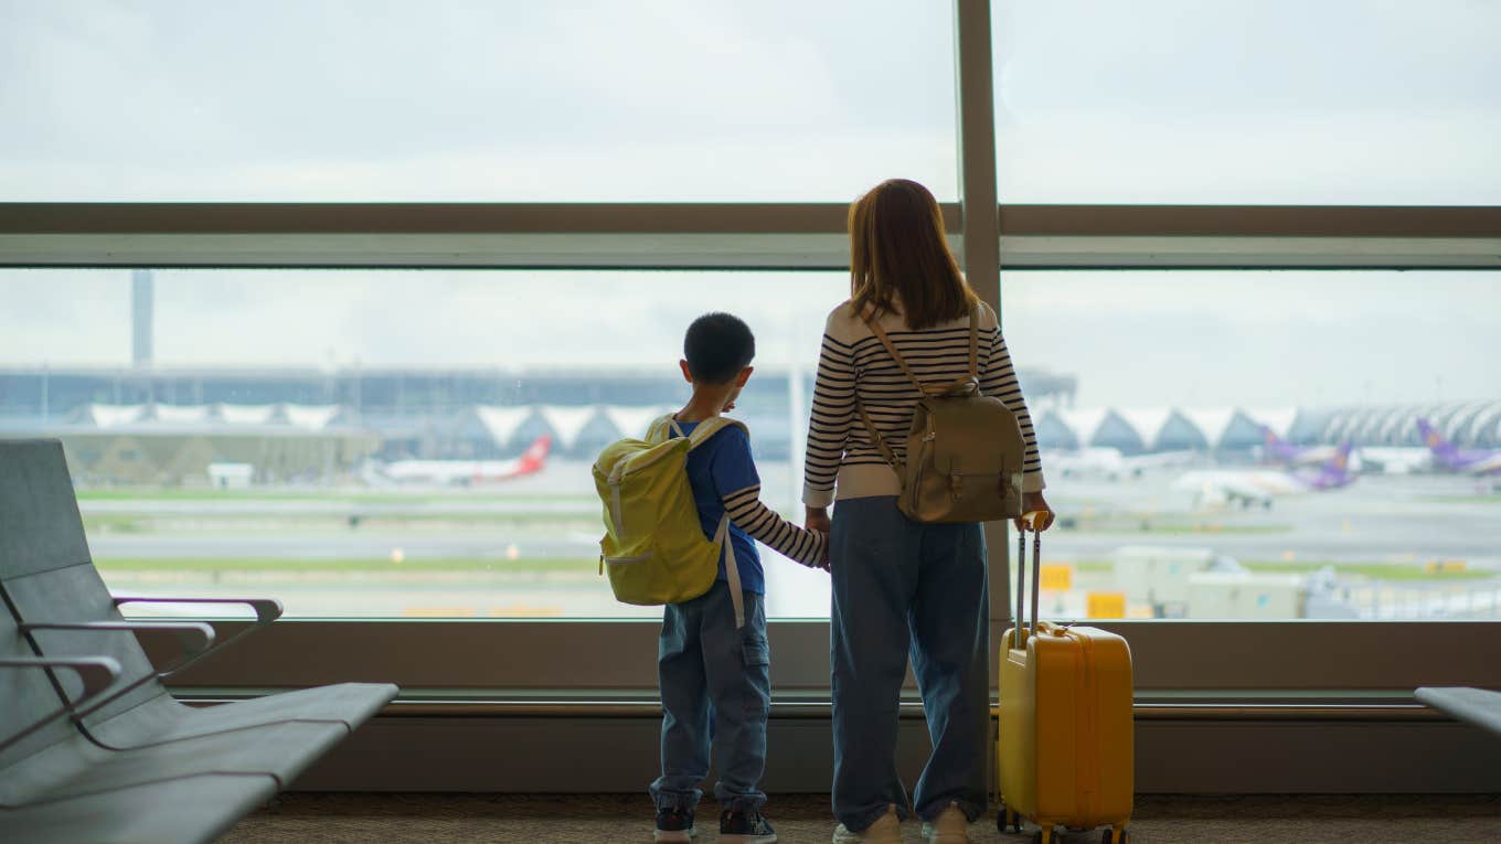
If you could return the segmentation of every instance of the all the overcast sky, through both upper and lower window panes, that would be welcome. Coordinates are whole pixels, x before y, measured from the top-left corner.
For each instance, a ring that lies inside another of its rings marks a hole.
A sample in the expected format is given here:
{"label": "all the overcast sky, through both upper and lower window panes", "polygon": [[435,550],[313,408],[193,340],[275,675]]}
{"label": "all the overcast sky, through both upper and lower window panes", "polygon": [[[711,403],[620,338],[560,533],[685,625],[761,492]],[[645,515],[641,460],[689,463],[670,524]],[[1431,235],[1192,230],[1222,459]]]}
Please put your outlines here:
{"label": "all the overcast sky, through both upper and lower window panes", "polygon": [[[1501,3],[998,2],[1006,201],[1501,204]],[[0,201],[955,198],[949,2],[0,0]],[[162,363],[811,360],[839,273],[161,272]],[[1085,404],[1495,398],[1496,273],[1015,273]],[[0,270],[0,365],[129,359],[125,272]],[[588,314],[581,312],[587,305]],[[1151,392],[1141,392],[1150,383]],[[1165,384],[1165,386],[1163,386]]]}

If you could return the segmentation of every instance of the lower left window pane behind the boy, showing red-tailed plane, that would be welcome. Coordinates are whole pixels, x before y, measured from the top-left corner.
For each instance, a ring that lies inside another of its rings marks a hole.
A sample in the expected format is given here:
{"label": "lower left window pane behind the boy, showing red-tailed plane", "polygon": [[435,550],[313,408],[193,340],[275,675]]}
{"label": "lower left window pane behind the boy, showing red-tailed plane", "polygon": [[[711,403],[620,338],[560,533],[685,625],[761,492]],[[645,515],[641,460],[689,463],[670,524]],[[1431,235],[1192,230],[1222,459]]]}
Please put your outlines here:
{"label": "lower left window pane behind the boy, showing red-tailed plane", "polygon": [[[267,595],[297,617],[653,616],[597,574],[594,455],[681,407],[683,330],[729,311],[758,348],[734,414],[764,500],[799,517],[812,362],[847,290],[844,273],[0,270],[0,437],[62,439],[117,593]],[[764,560],[770,614],[827,616],[827,575]]]}

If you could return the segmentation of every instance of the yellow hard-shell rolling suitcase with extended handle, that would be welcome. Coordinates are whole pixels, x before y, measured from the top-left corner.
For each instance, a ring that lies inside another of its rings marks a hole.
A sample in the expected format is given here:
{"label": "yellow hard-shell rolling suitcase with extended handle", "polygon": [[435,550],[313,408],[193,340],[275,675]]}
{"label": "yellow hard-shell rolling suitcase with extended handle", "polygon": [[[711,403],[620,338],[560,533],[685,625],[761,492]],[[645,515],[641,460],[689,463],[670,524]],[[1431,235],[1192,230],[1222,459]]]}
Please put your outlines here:
{"label": "yellow hard-shell rolling suitcase with extended handle", "polygon": [[1016,541],[1016,626],[1001,641],[1001,808],[995,824],[1040,829],[1039,844],[1061,829],[1109,826],[1102,844],[1126,844],[1132,812],[1132,670],[1126,640],[1087,626],[1037,620],[1042,535],[1033,533],[1031,629],[1027,532]]}

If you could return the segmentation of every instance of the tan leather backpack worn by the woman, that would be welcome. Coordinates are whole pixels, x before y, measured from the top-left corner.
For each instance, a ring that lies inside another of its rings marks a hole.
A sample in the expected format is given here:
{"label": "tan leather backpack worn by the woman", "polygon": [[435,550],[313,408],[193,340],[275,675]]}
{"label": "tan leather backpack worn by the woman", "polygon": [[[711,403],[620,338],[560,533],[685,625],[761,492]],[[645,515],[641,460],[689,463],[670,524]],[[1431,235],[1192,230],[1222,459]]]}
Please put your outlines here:
{"label": "tan leather backpack worn by the woman", "polygon": [[902,482],[898,509],[907,518],[923,523],[1019,517],[1027,442],[1016,414],[1001,399],[980,393],[979,308],[970,311],[970,375],[946,384],[920,381],[881,324],[868,315],[863,318],[923,393],[907,433],[905,461],[896,460],[856,396],[856,408],[871,440]]}

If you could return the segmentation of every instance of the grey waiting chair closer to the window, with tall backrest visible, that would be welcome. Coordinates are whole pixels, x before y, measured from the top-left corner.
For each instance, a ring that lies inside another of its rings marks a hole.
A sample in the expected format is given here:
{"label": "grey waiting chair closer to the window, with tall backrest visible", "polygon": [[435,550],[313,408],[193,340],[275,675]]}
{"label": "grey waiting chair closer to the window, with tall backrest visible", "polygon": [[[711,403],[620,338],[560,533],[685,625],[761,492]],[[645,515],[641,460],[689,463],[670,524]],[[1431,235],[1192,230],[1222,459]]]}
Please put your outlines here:
{"label": "grey waiting chair closer to the window, with tall backrest visible", "polygon": [[[80,725],[102,746],[131,748],[279,722],[333,722],[350,731],[398,691],[390,683],[338,683],[212,707],[179,703],[162,679],[270,625],[281,605],[270,599],[111,596],[89,556],[78,500],[56,440],[0,442],[0,593],[39,656],[102,655],[120,664],[120,685],[78,712]],[[117,607],[138,601],[248,604],[257,620],[210,647],[213,631],[203,625],[120,616]],[[179,634],[182,655],[158,671],[135,638],[135,631],[144,629]]]}

